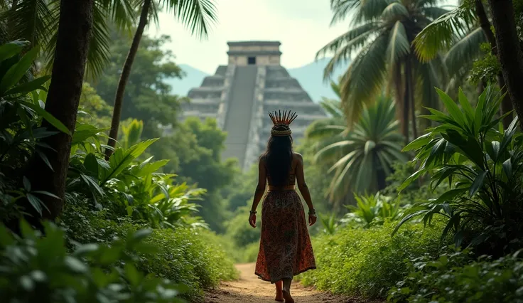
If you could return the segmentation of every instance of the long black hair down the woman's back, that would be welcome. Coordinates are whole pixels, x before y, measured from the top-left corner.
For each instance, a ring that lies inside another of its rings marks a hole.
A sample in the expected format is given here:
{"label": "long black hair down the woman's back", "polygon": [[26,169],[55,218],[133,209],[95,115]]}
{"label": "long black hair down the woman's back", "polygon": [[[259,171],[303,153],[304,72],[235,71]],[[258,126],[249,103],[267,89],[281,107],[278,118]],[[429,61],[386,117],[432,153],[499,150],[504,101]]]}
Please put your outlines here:
{"label": "long black hair down the woman's back", "polygon": [[[276,130],[286,130],[284,127],[275,128]],[[272,136],[267,142],[267,149],[262,154],[265,160],[271,185],[285,186],[291,173],[292,164],[292,137],[289,136]]]}

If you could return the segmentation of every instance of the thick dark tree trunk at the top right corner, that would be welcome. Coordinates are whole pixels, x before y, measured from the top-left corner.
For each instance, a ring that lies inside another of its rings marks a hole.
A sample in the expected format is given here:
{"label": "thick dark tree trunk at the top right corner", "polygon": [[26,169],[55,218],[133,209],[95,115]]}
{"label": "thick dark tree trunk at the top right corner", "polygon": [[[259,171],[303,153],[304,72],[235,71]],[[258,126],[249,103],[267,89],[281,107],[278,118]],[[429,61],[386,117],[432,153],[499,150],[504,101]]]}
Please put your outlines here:
{"label": "thick dark tree trunk at the top right corner", "polygon": [[497,56],[512,105],[523,117],[523,52],[519,48],[512,0],[489,0],[495,28]]}

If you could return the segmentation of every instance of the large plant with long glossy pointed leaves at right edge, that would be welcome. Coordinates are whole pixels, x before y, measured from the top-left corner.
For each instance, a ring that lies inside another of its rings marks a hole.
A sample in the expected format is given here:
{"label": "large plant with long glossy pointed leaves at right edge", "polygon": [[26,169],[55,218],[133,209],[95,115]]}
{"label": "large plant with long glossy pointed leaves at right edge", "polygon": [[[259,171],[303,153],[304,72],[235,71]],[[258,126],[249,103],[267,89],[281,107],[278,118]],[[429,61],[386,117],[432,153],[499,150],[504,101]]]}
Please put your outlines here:
{"label": "large plant with long glossy pointed leaves at right edge", "polygon": [[503,129],[503,117],[496,117],[503,96],[492,87],[480,95],[475,110],[461,90],[461,108],[441,90],[438,94],[449,115],[429,109],[426,117],[440,124],[405,147],[417,151],[421,168],[401,188],[431,174],[433,188],[448,181],[451,189],[411,208],[397,228],[416,216],[427,223],[440,215],[447,218],[441,236],[452,233],[455,245],[496,255],[520,248],[523,144],[517,118]]}

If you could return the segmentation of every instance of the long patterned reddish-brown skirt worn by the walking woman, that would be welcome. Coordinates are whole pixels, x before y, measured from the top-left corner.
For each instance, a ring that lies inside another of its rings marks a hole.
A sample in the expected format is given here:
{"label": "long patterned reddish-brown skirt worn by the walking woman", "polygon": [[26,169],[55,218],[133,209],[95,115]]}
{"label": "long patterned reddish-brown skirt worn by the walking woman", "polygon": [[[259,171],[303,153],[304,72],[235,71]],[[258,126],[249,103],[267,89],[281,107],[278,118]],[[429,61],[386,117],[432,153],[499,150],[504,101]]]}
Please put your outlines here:
{"label": "long patterned reddish-brown skirt worn by the walking woman", "polygon": [[275,283],[315,268],[300,196],[296,191],[269,191],[262,204],[262,238],[255,274]]}

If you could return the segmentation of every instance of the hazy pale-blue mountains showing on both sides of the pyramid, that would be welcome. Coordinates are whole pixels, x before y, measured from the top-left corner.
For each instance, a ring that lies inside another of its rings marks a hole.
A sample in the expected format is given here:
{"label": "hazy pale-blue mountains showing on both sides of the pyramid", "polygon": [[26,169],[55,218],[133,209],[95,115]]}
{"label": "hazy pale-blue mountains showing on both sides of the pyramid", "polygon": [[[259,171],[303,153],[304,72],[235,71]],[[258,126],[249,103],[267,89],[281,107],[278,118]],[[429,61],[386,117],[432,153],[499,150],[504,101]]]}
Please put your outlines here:
{"label": "hazy pale-blue mountains showing on both sides of the pyramid", "polygon": [[[330,58],[323,58],[299,68],[288,69],[291,77],[298,80],[300,85],[304,90],[306,90],[306,92],[308,92],[314,102],[321,100],[321,97],[336,97],[334,92],[330,89],[330,83],[323,81],[323,70],[325,69],[325,66],[327,66],[329,60]],[[203,78],[208,75],[190,65],[180,64],[179,66],[185,72],[185,77],[183,79],[166,79],[166,83],[173,86],[173,93],[176,95],[187,95],[191,88],[199,87],[202,84]],[[348,63],[343,67],[335,69],[333,80],[338,80],[338,77],[347,70],[347,67]]]}

